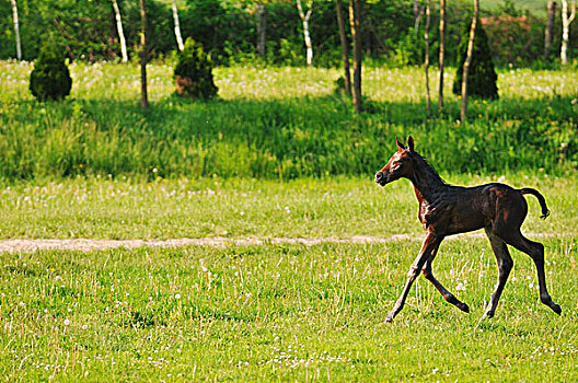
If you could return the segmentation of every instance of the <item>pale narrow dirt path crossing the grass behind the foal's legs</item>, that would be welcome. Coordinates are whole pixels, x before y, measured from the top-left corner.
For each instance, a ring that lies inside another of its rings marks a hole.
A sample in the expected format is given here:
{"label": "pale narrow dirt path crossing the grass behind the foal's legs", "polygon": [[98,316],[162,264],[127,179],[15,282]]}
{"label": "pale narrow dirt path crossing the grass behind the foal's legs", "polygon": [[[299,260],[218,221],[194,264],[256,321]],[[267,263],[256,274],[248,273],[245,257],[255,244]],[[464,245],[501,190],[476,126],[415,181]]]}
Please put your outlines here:
{"label": "pale narrow dirt path crossing the grass behind the foal's legs", "polygon": [[[449,239],[484,237],[484,233],[469,233],[451,236]],[[569,237],[578,236],[576,233],[527,233],[532,239],[539,237]],[[67,249],[67,251],[101,251],[107,248],[137,248],[137,247],[181,247],[181,246],[224,246],[233,245],[259,245],[265,243],[277,244],[304,244],[308,246],[319,243],[388,243],[396,241],[419,241],[423,235],[396,234],[388,237],[381,236],[351,236],[348,239],[337,239],[332,236],[315,239],[228,239],[223,236],[211,236],[201,239],[173,239],[173,240],[90,240],[90,239],[71,239],[71,240],[44,240],[44,239],[11,239],[0,240],[0,253],[32,253],[42,249]]]}

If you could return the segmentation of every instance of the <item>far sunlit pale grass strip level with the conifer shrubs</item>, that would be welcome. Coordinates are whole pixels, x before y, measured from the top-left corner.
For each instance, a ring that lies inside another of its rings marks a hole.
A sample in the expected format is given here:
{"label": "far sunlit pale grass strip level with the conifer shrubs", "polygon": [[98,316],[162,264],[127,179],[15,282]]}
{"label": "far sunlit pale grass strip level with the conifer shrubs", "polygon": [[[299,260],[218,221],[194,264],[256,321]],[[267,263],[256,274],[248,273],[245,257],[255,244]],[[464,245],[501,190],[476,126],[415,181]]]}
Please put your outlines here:
{"label": "far sunlit pale grass strip level with the conifer shrubs", "polygon": [[[33,100],[28,91],[33,65],[21,61],[0,61],[0,101]],[[140,96],[140,70],[136,63],[72,62],[71,97],[83,100],[134,100]],[[161,101],[174,92],[173,67],[170,62],[147,66],[151,100]],[[342,71],[335,68],[299,67],[218,67],[215,81],[219,96],[224,100],[271,100],[302,96],[324,96],[333,93],[335,80]],[[444,74],[446,97],[456,100],[451,93],[454,68]],[[425,76],[419,68],[365,67],[363,94],[380,102],[419,102],[425,100]],[[431,70],[431,83],[439,76]],[[432,86],[432,89],[437,89]],[[578,92],[578,73],[575,71],[545,71],[530,69],[504,70],[498,76],[500,96],[505,98],[543,98],[574,96]],[[437,92],[432,91],[434,98]]]}

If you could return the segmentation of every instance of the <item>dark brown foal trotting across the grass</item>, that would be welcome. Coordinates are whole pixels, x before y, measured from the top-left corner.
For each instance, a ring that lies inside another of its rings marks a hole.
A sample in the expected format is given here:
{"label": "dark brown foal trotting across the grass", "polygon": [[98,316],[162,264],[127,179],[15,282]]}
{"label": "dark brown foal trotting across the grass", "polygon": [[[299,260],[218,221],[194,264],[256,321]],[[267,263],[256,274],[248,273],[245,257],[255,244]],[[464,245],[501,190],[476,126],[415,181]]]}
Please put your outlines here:
{"label": "dark brown foal trotting across the grass", "polygon": [[498,283],[485,315],[494,316],[501,291],[513,266],[507,245],[524,252],[534,260],[540,282],[540,300],[555,313],[560,314],[562,309],[552,301],[546,288],[544,246],[528,240],[520,232],[520,227],[528,214],[528,204],[523,195],[531,194],[537,198],[542,208],[542,218],[550,214],[544,197],[532,188],[515,189],[504,184],[476,187],[448,185],[414,150],[414,139],[411,136],[407,139],[407,148],[397,139],[395,142],[397,151],[375,174],[375,182],[385,186],[402,177],[412,181],[419,202],[418,217],[426,230],[426,239],[417,258],[412,264],[402,295],[388,315],[386,322],[392,322],[402,311],[407,293],[420,271],[448,302],[466,313],[470,312],[467,304],[460,302],[434,277],[431,263],[446,236],[478,229],[486,231],[499,270]]}

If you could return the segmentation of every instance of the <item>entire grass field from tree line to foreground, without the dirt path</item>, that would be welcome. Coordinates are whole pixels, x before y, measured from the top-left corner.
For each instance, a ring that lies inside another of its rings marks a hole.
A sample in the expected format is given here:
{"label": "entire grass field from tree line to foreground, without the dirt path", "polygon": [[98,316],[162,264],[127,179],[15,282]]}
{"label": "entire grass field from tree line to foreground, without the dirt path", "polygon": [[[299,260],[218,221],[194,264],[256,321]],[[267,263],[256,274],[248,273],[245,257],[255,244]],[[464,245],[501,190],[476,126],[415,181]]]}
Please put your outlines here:
{"label": "entire grass field from tree line to foreground, without the dirt path", "polygon": [[[63,103],[27,91],[28,63],[0,62],[0,240],[228,239],[222,246],[0,253],[2,381],[578,380],[578,76],[500,72],[500,100],[459,100],[427,120],[417,68],[366,68],[367,111],[333,94],[336,70],[218,68],[220,100],[171,95],[171,68],[71,66]],[[448,88],[452,73],[446,82]],[[373,174],[412,134],[452,184],[537,188],[522,231],[546,247],[557,316],[531,259],[496,316],[488,241],[446,241],[384,318],[420,247],[413,187]],[[332,242],[354,236],[382,243]],[[274,239],[326,239],[274,244]],[[236,245],[234,240],[264,240]],[[267,241],[270,240],[270,241]]]}

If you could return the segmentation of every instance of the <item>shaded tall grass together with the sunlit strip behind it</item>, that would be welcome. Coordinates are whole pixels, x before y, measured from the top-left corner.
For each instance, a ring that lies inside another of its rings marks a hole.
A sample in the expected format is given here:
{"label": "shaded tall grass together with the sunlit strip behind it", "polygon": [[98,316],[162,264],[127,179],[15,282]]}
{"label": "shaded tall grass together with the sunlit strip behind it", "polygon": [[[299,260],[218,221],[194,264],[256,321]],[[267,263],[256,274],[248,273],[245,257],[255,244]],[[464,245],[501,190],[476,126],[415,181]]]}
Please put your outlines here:
{"label": "shaded tall grass together with the sunlit strip behind it", "polygon": [[0,177],[74,175],[296,178],[366,175],[413,135],[440,171],[563,173],[578,164],[578,76],[508,71],[501,98],[474,101],[461,126],[459,100],[426,118],[419,69],[367,68],[367,111],[333,93],[336,70],[218,68],[217,102],[172,96],[171,67],[150,65],[149,111],[138,105],[134,65],[72,65],[62,103],[27,92],[31,66],[0,63]]}

